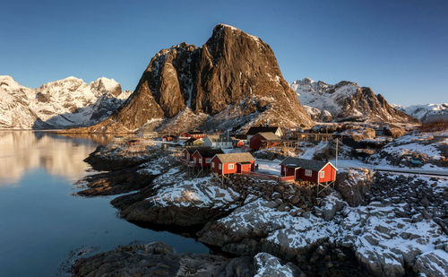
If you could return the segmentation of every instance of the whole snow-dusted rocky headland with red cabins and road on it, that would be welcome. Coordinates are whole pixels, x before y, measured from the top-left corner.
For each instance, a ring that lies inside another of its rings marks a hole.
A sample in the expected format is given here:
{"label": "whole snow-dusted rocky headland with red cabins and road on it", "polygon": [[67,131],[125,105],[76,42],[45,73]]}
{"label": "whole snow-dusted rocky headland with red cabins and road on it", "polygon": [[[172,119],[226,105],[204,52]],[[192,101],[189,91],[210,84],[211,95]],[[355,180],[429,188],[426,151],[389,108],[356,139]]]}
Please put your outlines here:
{"label": "whole snow-dusted rocky headland with red cabins and road on it", "polygon": [[[187,236],[207,246],[269,253],[311,276],[401,276],[409,266],[438,276],[448,139],[445,127],[426,127],[116,136],[85,160],[108,173],[81,180],[77,194],[118,195],[111,203],[127,221],[194,229]],[[364,145],[371,153],[359,155]]]}

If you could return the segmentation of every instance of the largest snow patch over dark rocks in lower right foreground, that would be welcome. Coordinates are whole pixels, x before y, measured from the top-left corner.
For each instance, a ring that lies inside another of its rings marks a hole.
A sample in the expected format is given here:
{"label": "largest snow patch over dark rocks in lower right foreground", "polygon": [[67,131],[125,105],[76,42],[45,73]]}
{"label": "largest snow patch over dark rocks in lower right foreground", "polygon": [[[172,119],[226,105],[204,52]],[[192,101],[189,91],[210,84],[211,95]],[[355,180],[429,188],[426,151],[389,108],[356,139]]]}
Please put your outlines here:
{"label": "largest snow patch over dark rocks in lower right foreground", "polygon": [[[448,181],[441,183],[440,186],[444,187]],[[222,238],[224,245],[232,243],[233,238],[250,238],[263,231],[267,237],[262,239],[262,243],[299,253],[328,239],[332,243],[352,247],[358,260],[374,272],[400,275],[405,273],[405,264],[416,264],[419,272],[432,272],[430,276],[446,276],[448,273],[447,264],[444,264],[448,254],[444,251],[434,253],[444,246],[445,251],[448,250],[448,236],[431,219],[401,217],[406,203],[372,202],[359,207],[342,203],[335,210],[340,212],[325,221],[310,212],[298,212],[298,216],[292,216],[290,211],[278,211],[274,202],[254,197],[248,199],[251,201],[217,221],[217,228],[223,229],[228,236]],[[337,205],[332,199],[324,199],[324,202],[323,208],[329,211]],[[418,265],[416,261],[419,260],[432,262]]]}

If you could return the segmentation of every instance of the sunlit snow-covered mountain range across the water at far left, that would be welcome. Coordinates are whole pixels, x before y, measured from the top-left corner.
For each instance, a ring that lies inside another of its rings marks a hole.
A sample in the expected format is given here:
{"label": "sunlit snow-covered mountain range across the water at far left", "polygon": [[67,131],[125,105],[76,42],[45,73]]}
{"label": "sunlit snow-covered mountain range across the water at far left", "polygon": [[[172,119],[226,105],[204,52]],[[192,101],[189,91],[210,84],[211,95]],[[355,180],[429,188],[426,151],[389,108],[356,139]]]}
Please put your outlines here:
{"label": "sunlit snow-covered mountain range across the water at far left", "polygon": [[68,77],[33,90],[11,76],[0,76],[0,129],[90,126],[107,118],[130,94],[104,77],[90,84]]}

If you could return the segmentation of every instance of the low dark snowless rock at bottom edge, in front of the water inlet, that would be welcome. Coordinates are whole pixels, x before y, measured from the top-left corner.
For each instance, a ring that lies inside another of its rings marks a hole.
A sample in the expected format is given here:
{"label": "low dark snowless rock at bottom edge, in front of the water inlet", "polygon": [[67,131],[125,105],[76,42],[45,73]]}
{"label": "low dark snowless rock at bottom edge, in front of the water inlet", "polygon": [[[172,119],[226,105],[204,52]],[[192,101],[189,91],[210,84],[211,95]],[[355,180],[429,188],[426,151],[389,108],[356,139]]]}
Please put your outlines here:
{"label": "low dark snowless rock at bottom edge, in front of the water inlet", "polygon": [[[234,259],[237,260],[237,259]],[[239,259],[238,262],[245,262]],[[252,276],[232,275],[238,263],[217,255],[175,254],[172,247],[154,242],[115,250],[77,260],[73,276]],[[228,273],[228,275],[226,275]],[[220,275],[222,274],[222,275]]]}

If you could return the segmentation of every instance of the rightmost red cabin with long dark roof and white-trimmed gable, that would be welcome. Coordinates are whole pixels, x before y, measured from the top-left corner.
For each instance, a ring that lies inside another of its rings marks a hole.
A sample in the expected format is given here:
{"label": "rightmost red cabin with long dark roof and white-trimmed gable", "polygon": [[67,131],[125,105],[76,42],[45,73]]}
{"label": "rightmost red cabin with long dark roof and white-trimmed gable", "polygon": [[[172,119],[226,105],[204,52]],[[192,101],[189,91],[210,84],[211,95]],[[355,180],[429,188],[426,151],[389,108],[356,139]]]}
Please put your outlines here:
{"label": "rightmost red cabin with long dark roof and white-trimmed gable", "polygon": [[316,184],[336,180],[336,167],[331,162],[306,160],[288,157],[281,163],[281,176],[294,176],[295,180],[310,181]]}

